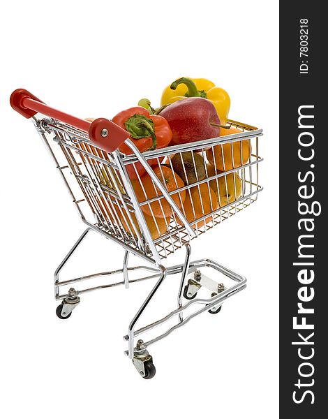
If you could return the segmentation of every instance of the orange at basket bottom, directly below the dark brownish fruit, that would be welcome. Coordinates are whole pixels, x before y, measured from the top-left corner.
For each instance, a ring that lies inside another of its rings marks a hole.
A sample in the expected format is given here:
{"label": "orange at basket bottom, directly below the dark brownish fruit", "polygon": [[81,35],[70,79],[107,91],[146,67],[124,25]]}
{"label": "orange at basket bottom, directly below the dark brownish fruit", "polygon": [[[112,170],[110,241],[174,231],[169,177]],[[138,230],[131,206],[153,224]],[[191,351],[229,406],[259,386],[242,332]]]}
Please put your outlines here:
{"label": "orange at basket bottom, directly below the dark brownish fruit", "polygon": [[[200,184],[199,186],[193,186],[186,193],[186,200],[184,201],[184,214],[188,223],[191,223],[191,226],[197,225],[197,228],[200,228],[204,226],[204,224],[209,223],[212,219],[211,216],[202,221],[198,221],[197,223],[193,221],[214,210],[218,210],[218,207],[218,197],[213,189],[207,185],[207,183]],[[182,224],[180,219],[177,218],[177,221],[179,224]]]}

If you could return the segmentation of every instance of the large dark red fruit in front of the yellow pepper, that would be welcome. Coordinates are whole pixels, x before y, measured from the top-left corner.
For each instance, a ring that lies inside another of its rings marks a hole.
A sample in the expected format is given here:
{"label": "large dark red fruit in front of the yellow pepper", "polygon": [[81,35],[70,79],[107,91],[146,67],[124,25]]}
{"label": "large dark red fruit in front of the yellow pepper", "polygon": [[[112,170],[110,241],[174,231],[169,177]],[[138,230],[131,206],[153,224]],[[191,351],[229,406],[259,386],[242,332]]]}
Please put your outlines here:
{"label": "large dark red fruit in front of the yellow pepper", "polygon": [[[170,145],[184,144],[220,135],[220,118],[211,101],[185,98],[168,105],[161,112],[172,130]],[[216,125],[211,125],[216,124]]]}

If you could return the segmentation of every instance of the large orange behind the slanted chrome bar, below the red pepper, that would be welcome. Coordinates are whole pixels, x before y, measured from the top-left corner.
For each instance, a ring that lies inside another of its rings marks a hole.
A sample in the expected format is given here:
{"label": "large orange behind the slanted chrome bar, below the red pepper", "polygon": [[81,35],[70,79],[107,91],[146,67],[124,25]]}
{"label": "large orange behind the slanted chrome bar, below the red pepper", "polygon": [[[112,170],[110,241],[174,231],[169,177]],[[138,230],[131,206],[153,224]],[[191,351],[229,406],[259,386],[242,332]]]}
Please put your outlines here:
{"label": "large orange behind the slanted chrome bar, below the red pepper", "polygon": [[[172,170],[170,168],[167,168],[167,166],[157,166],[153,170],[155,175],[161,181],[161,183],[165,185],[165,188],[168,192],[176,191],[177,189],[182,188],[184,186],[184,182],[181,179],[181,177],[179,177],[179,175],[177,175],[176,173],[172,172]],[[151,180],[151,177],[148,175],[148,173],[143,175],[140,180],[142,182],[142,185],[138,180],[132,182],[133,189],[135,190],[135,195],[137,196],[137,200],[140,203],[144,202],[145,200],[153,199],[157,196],[162,195],[162,193],[158,190],[157,187],[155,189],[153,181]],[[174,193],[171,195],[171,197],[174,200],[174,203],[176,203],[177,206],[181,208],[186,198],[186,191]],[[141,209],[142,212],[144,212],[144,214],[147,214],[149,216],[152,216],[151,212],[153,212],[156,218],[166,218],[167,216],[173,214],[172,207],[165,198],[157,199],[152,203],[142,205]]]}

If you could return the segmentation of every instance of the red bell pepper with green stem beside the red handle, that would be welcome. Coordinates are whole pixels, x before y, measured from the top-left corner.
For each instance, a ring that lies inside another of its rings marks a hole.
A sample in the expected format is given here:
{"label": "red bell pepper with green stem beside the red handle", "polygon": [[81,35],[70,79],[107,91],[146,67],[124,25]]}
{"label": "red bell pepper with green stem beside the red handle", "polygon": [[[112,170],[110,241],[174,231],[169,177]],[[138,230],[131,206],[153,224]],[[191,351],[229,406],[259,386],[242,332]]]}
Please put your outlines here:
{"label": "red bell pepper with green stem beside the red handle", "polygon": [[[172,140],[172,131],[166,119],[160,115],[150,115],[141,106],[122,110],[114,116],[112,122],[128,131],[129,138],[140,152],[166,147]],[[119,151],[124,154],[133,154],[125,143],[119,146]],[[147,162],[153,166],[158,163],[157,159],[150,159]],[[145,172],[144,167],[137,162],[135,168],[141,177]],[[131,179],[137,179],[137,173],[132,164],[128,164],[126,170]]]}

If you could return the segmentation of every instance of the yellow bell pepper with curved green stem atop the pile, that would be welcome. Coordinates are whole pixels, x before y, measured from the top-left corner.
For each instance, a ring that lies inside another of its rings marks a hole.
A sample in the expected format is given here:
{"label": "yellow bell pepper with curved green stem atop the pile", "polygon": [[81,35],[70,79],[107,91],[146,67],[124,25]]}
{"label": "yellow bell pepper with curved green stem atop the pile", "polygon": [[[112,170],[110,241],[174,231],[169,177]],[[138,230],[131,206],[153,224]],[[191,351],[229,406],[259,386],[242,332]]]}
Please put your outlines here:
{"label": "yellow bell pepper with curved green stem atop the pile", "polygon": [[225,90],[221,89],[221,87],[216,87],[213,82],[207,79],[182,77],[175,80],[175,82],[164,89],[161,105],[167,105],[168,103],[174,103],[186,97],[194,96],[209,99],[214,104],[216,112],[218,112],[221,125],[227,124],[230,97]]}

